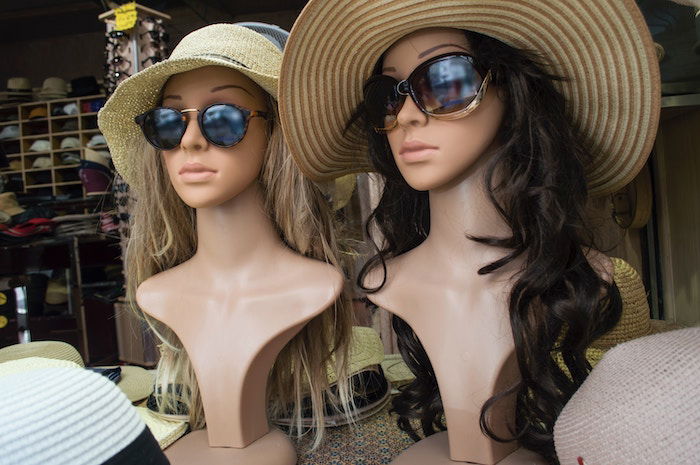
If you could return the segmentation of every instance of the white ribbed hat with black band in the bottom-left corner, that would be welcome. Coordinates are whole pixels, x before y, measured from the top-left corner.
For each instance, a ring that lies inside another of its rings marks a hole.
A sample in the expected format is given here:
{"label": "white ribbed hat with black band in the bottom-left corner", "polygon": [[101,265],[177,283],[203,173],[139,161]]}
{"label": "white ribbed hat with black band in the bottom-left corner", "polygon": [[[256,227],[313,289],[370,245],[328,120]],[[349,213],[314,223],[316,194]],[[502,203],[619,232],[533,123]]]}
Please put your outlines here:
{"label": "white ribbed hat with black band in the bottom-left corner", "polygon": [[0,377],[0,464],[166,465],[113,382],[79,367]]}

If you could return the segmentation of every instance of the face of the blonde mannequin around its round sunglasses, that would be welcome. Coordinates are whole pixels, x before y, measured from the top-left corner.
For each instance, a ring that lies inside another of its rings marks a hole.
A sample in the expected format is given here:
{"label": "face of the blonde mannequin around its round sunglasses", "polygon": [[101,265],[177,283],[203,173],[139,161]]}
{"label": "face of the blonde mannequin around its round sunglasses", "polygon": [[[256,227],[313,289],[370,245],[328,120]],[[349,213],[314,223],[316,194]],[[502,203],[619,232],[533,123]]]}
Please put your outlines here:
{"label": "face of the blonde mannequin around its round sunglasses", "polygon": [[[212,103],[267,110],[265,91],[238,71],[221,66],[177,74],[163,88],[163,106],[201,110]],[[250,120],[238,144],[218,147],[202,135],[197,113],[187,115],[187,129],[180,145],[161,152],[170,182],[187,205],[220,205],[256,182],[267,147],[267,122],[263,118]],[[203,172],[192,172],[193,168]]]}

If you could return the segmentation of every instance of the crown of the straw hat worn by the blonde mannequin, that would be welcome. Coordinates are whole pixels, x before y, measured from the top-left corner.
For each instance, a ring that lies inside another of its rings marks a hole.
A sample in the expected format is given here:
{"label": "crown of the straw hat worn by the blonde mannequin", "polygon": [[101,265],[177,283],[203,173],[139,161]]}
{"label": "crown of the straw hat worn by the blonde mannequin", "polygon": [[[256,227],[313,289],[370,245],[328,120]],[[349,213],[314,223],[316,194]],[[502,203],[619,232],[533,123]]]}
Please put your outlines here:
{"label": "crown of the straw hat worn by the blonde mannequin", "polygon": [[212,24],[185,36],[169,60],[216,58],[269,76],[279,76],[282,52],[260,34],[234,24]]}

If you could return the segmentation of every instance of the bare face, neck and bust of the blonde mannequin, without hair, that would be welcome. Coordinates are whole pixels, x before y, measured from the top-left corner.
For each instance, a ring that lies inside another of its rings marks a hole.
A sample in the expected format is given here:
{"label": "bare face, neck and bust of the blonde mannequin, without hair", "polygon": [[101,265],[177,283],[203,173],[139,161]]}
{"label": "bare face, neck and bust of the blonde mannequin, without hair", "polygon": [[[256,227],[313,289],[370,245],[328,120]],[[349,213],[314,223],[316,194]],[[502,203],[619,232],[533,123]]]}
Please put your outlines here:
{"label": "bare face, neck and bust of the blonde mannequin, without hair", "polygon": [[[262,89],[223,67],[173,76],[163,106],[203,108],[212,89],[222,89],[214,92],[217,102],[266,106]],[[296,463],[286,436],[270,432],[267,378],[282,348],[338,298],[343,278],[284,245],[265,212],[257,181],[265,124],[251,120],[239,144],[219,148],[190,122],[180,147],[163,152],[175,191],[196,210],[197,251],[144,281],[136,297],[182,341],[207,421],[206,433],[191,433],[166,450],[172,463]]]}

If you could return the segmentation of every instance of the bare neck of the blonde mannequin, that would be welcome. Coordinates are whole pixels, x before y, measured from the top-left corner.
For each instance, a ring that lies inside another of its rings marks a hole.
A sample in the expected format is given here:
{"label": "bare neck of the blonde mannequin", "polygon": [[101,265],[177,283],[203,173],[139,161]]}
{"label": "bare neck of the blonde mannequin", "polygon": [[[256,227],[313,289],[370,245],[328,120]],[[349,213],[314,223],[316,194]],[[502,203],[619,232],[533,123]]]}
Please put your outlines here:
{"label": "bare neck of the blonde mannequin", "polygon": [[[251,184],[236,197],[197,209],[197,252],[193,257],[217,271],[258,269],[286,250],[265,212],[261,187]],[[269,259],[268,259],[269,257]]]}

